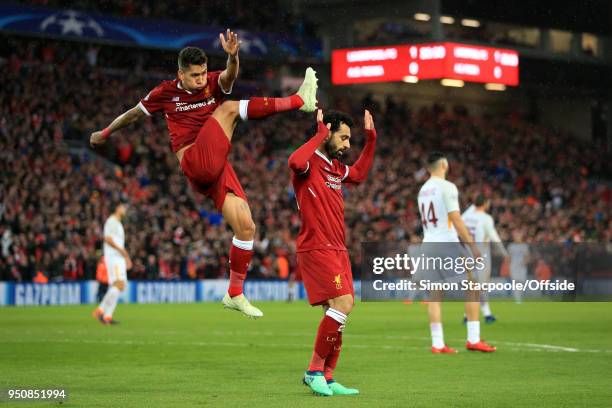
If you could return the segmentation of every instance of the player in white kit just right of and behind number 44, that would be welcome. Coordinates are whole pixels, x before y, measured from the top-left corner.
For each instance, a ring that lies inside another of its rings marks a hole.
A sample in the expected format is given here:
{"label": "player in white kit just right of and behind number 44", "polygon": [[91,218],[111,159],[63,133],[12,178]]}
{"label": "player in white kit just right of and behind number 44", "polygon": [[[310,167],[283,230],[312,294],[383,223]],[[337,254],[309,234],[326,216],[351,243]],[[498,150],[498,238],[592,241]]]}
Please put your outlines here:
{"label": "player in white kit just right of and behind number 44", "polygon": [[[474,204],[461,215],[468,232],[474,242],[476,242],[476,245],[478,245],[480,254],[484,259],[485,268],[478,276],[480,282],[489,282],[491,279],[491,243],[495,244],[497,251],[506,260],[509,258],[508,251],[506,251],[504,244],[502,244],[499,238],[499,234],[495,230],[493,217],[487,214],[490,206],[491,202],[483,194],[479,194]],[[497,320],[491,312],[487,292],[480,293],[480,310],[485,318],[485,323],[494,323]],[[466,322],[467,317],[464,317],[464,323]]]}

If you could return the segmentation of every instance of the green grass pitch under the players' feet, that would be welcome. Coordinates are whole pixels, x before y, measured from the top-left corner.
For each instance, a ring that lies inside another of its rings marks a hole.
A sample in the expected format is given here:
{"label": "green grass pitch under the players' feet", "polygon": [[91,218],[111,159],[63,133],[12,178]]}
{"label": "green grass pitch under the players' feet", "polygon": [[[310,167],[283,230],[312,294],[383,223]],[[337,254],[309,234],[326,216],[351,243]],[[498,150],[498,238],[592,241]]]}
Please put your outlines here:
{"label": "green grass pitch under the players' feet", "polygon": [[[612,303],[493,303],[493,354],[463,348],[462,304],[446,303],[458,355],[432,355],[421,304],[358,303],[336,378],[356,397],[315,397],[300,378],[320,308],[257,303],[0,308],[0,388],[65,387],[63,407],[610,407]],[[44,407],[59,403],[0,403]]]}

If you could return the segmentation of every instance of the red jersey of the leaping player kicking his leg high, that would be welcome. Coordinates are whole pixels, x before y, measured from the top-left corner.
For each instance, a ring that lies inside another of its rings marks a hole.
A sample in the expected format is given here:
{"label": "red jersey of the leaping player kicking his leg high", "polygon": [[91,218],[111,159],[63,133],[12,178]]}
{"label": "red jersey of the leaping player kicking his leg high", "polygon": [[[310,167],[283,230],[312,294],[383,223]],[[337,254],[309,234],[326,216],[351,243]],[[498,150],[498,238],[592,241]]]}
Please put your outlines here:
{"label": "red jersey of the leaping player kicking his leg high", "polygon": [[223,102],[223,90],[219,82],[221,71],[208,72],[208,83],[199,92],[190,92],[181,87],[178,79],[163,81],[139,103],[138,107],[151,116],[163,112],[166,117],[172,151],[195,141],[200,128]]}

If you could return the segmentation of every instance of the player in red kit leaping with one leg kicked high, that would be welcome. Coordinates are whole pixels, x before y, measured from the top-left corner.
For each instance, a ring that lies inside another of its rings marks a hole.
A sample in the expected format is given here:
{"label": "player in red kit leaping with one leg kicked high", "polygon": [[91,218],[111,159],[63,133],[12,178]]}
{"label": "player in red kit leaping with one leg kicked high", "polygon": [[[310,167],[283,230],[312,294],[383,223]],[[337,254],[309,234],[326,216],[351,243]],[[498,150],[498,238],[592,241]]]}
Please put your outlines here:
{"label": "player in red kit leaping with one leg kicked high", "polygon": [[177,78],[163,81],[135,107],[118,116],[105,129],[91,135],[92,146],[103,144],[111,133],[144,116],[162,113],[168,125],[172,151],[191,186],[210,197],[234,232],[230,249],[230,284],[223,298],[226,308],[253,318],[263,316],[242,293],[253,256],[255,224],[246,194],[228,161],[238,118],[260,119],[277,112],[316,109],[317,78],[312,68],[295,95],[286,98],[257,97],[226,101],[238,76],[238,35],[219,34],[228,54],[223,71],[208,71],[208,58],[196,47],[183,48],[178,57]]}

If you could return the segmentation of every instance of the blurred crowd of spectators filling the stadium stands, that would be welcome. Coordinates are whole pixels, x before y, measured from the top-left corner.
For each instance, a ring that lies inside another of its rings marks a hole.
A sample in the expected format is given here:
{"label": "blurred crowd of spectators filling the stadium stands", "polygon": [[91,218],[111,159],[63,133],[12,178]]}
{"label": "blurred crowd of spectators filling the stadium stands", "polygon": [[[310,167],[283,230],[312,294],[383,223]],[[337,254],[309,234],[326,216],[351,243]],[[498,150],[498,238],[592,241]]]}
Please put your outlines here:
{"label": "blurred crowd of spectators filling the stadium stands", "polygon": [[[97,154],[68,147],[74,139],[85,146],[92,130],[135,105],[159,81],[159,67],[134,69],[132,53],[121,49],[92,63],[85,46],[7,40],[0,47],[0,280],[38,272],[52,281],[93,278],[103,223],[120,198],[129,202],[131,279],[226,277],[232,233],[188,187],[162,117],[119,132]],[[358,123],[348,162],[363,144],[364,106],[380,137],[367,182],[344,190],[355,266],[361,241],[418,242],[415,200],[433,149],[450,154],[462,208],[479,192],[491,198],[504,241],[517,233],[528,242],[612,241],[611,164],[589,143],[517,113],[475,117],[460,108],[413,111],[392,99],[337,98],[333,108]],[[250,121],[234,137],[231,161],[258,227],[250,277],[286,278],[294,267],[300,221],[287,158],[312,119]]]}

